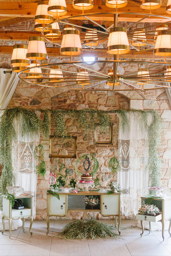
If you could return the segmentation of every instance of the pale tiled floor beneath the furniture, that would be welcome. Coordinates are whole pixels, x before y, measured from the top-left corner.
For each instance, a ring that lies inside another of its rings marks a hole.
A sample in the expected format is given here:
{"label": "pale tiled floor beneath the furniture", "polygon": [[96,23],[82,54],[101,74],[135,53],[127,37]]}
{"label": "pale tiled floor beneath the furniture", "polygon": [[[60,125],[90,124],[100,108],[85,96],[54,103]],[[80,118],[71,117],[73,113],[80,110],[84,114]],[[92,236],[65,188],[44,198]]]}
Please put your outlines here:
{"label": "pale tiled floor beneath the furniture", "polygon": [[[104,223],[113,224],[112,220],[100,220]],[[162,240],[161,231],[149,234],[144,231],[140,236],[141,229],[134,227],[136,220],[122,220],[121,237],[113,239],[95,240],[62,240],[53,237],[69,220],[50,220],[50,232],[46,236],[46,221],[36,220],[33,222],[31,236],[29,233],[29,221],[25,222],[25,233],[22,228],[13,230],[11,239],[9,231],[4,235],[0,233],[0,255],[11,256],[163,256],[171,255],[171,237],[165,231],[165,239]],[[133,226],[131,228],[131,226]],[[129,227],[129,228],[128,228]],[[116,231],[117,232],[117,231]]]}

